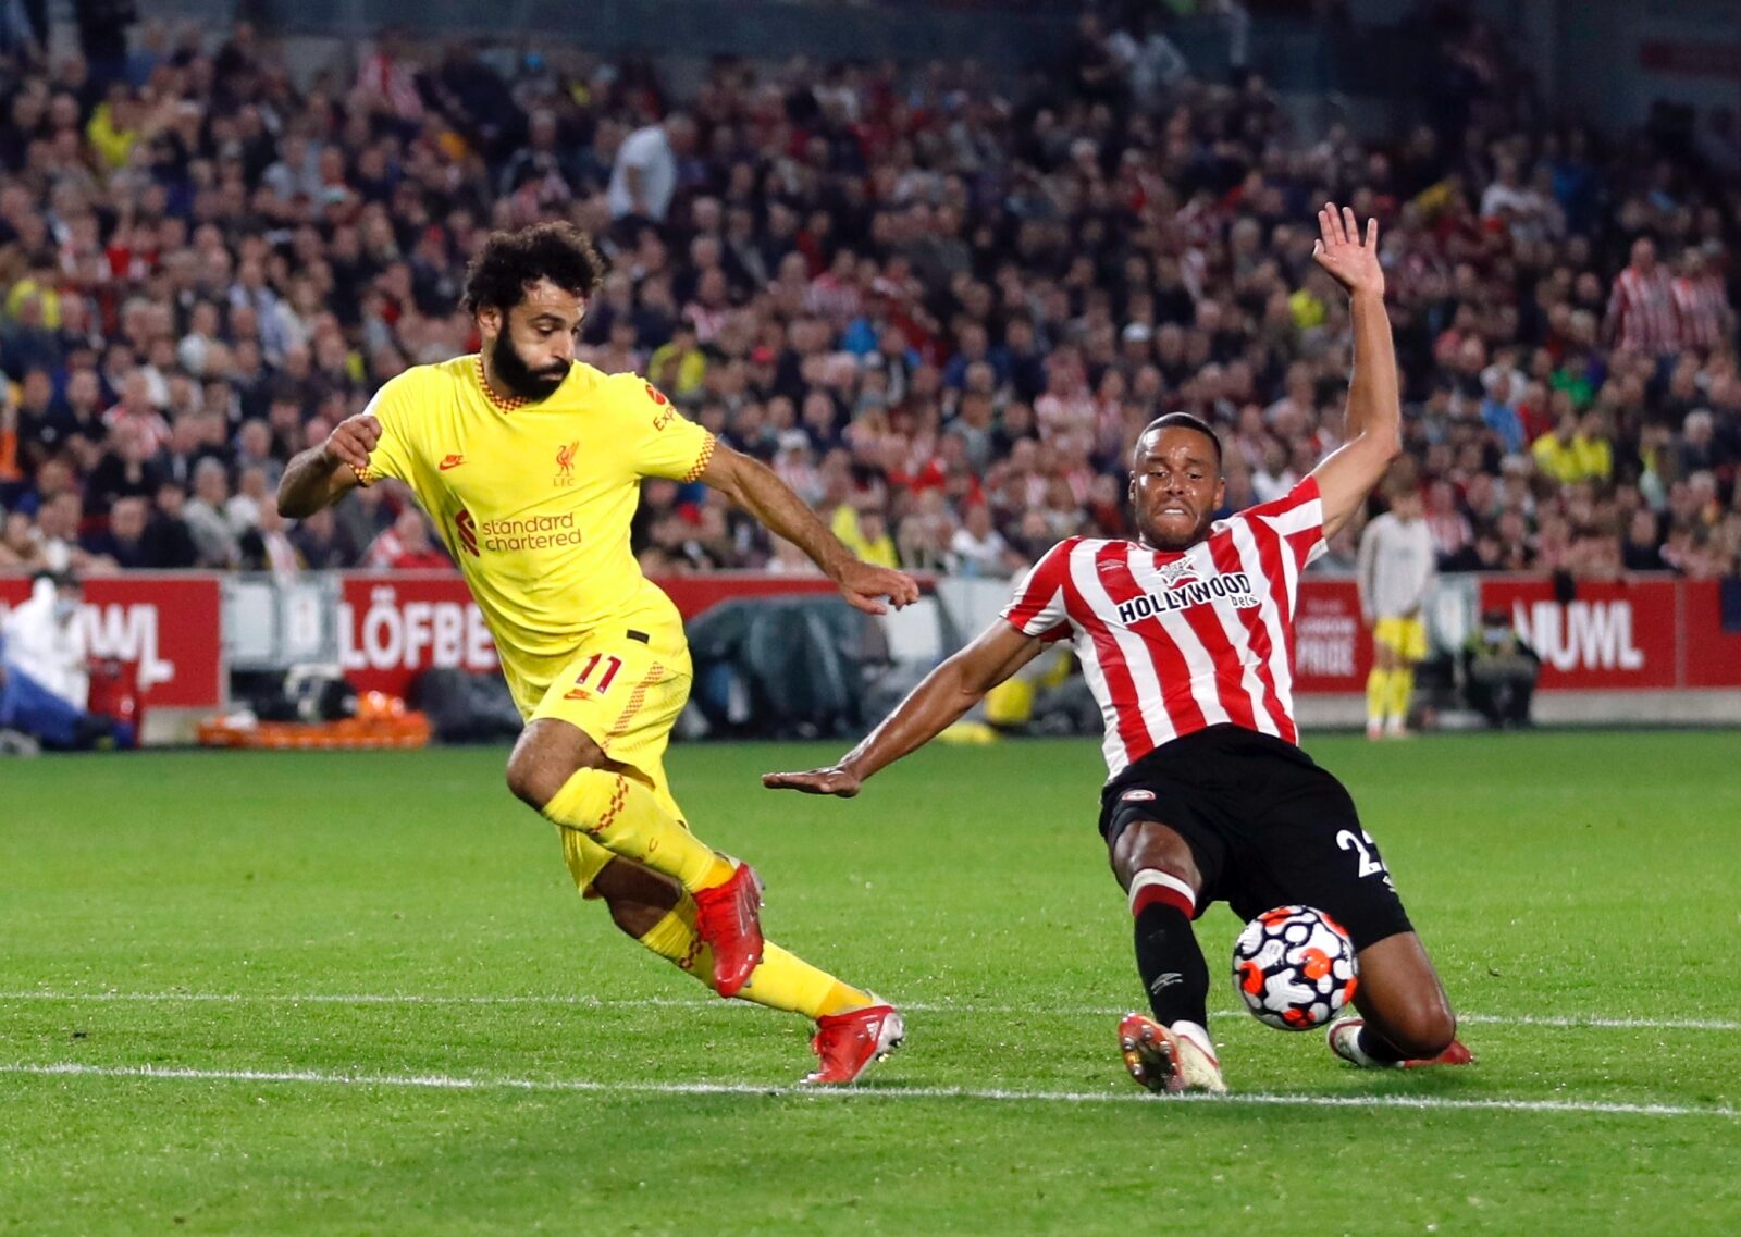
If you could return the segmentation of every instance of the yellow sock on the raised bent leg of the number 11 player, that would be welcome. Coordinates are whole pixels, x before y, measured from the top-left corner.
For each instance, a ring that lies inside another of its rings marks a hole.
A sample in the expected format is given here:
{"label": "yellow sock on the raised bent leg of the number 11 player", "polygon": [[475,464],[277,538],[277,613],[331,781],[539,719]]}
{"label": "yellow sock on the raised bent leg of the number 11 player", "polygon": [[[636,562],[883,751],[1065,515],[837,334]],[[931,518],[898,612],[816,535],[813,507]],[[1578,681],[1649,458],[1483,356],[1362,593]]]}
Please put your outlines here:
{"label": "yellow sock on the raised bent leg of the number 11 player", "polygon": [[543,814],[684,889],[710,889],[731,879],[729,859],[696,839],[646,785],[620,772],[580,769],[550,797]]}

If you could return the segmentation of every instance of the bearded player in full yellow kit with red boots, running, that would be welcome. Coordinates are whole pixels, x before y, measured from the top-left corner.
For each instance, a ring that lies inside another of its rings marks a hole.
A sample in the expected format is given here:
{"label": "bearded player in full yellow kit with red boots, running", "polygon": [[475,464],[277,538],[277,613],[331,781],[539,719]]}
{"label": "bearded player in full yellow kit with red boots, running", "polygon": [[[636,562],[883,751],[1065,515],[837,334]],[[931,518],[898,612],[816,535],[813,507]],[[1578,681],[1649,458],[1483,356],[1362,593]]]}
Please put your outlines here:
{"label": "bearded player in full yellow kit with red boots, running", "polygon": [[353,485],[407,484],[453,553],[526,717],[508,786],[557,825],[580,891],[625,933],[724,997],[817,1020],[808,1082],[851,1082],[902,1037],[900,1014],[764,941],[761,884],[696,839],[665,781],[689,694],[670,598],[629,550],[642,477],[700,480],[820,565],[848,602],[918,598],[860,562],[773,471],[684,419],[635,374],[575,360],[602,263],[585,233],[494,233],[467,273],[477,355],[416,365],[291,461],[286,517]]}

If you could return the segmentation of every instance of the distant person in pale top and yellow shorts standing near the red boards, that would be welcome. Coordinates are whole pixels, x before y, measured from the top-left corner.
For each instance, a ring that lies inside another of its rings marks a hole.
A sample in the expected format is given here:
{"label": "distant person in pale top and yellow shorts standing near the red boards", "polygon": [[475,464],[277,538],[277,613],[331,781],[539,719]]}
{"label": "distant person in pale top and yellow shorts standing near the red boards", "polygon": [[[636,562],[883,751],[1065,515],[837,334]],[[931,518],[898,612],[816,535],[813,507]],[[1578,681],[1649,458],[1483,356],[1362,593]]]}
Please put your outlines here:
{"label": "distant person in pale top and yellow shorts standing near the red boards", "polygon": [[1367,675],[1367,738],[1408,734],[1414,668],[1426,661],[1426,605],[1438,571],[1433,531],[1422,518],[1412,471],[1384,487],[1391,510],[1360,534],[1360,612],[1372,626],[1372,673]]}

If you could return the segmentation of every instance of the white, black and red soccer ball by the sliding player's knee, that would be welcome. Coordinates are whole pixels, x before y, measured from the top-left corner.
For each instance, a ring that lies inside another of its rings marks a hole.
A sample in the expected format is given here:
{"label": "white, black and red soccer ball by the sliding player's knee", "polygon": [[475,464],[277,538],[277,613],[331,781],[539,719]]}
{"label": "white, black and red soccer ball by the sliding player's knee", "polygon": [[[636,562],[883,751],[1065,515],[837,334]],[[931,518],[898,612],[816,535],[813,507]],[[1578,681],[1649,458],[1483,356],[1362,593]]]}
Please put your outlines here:
{"label": "white, black and red soccer ball by the sliding player's knee", "polygon": [[1348,933],[1321,910],[1276,906],[1234,941],[1233,983],[1257,1021],[1311,1030],[1354,997],[1360,966]]}

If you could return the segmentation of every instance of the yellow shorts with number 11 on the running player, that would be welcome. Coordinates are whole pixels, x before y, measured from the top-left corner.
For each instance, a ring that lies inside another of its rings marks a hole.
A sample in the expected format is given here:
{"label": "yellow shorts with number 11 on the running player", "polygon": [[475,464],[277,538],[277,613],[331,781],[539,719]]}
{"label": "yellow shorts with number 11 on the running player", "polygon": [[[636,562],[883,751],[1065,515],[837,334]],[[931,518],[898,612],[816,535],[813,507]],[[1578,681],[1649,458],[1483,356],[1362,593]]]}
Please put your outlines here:
{"label": "yellow shorts with number 11 on the running player", "polygon": [[[632,621],[632,619],[630,619]],[[580,727],[611,760],[629,766],[655,799],[686,819],[665,779],[665,746],[689,699],[689,645],[682,628],[601,628],[569,654],[503,658],[508,687],[528,722],[554,717]],[[562,858],[581,893],[611,853],[564,828]]]}

